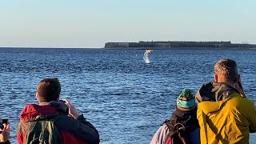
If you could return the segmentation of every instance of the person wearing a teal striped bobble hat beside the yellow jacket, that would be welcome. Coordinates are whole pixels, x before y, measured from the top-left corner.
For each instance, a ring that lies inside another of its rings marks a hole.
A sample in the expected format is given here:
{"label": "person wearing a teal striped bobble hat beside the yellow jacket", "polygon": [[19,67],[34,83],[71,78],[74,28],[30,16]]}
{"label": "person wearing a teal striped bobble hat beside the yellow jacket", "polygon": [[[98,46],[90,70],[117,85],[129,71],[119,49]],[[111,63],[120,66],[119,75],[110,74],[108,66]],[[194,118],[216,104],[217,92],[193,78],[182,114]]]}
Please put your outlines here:
{"label": "person wearing a teal striped bobble hat beside the yellow jacket", "polygon": [[[176,110],[174,110],[170,120],[163,122],[154,134],[150,144],[171,143],[177,127],[186,130],[186,135],[182,135],[186,143],[200,143],[200,129],[197,119],[197,105],[195,98],[189,89],[184,89],[177,98]],[[175,138],[174,140],[178,140]],[[182,142],[182,141],[180,141]],[[174,142],[175,143],[175,142]],[[179,143],[179,142],[178,142]]]}

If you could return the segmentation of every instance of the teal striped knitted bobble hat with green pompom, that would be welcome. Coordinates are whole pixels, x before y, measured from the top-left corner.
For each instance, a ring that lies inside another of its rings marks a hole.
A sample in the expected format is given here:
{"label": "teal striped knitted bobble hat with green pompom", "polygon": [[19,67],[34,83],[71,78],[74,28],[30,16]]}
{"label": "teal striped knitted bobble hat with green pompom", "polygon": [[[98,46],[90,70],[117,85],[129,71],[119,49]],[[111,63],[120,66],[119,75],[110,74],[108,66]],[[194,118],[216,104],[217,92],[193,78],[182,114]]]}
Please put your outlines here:
{"label": "teal striped knitted bobble hat with green pompom", "polygon": [[184,89],[177,98],[177,107],[181,110],[192,110],[195,107],[194,96],[190,89]]}

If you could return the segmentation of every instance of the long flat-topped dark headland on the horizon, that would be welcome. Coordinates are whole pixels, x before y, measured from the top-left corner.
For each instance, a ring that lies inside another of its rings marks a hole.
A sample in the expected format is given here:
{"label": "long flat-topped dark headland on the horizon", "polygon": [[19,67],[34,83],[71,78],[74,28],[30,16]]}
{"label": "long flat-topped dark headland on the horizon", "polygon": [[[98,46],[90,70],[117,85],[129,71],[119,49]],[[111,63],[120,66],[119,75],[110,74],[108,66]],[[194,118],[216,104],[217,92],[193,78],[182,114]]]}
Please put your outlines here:
{"label": "long flat-topped dark headland on the horizon", "polygon": [[113,49],[202,49],[202,50],[256,50],[255,44],[231,43],[230,41],[151,41],[151,42],[106,42],[104,48]]}

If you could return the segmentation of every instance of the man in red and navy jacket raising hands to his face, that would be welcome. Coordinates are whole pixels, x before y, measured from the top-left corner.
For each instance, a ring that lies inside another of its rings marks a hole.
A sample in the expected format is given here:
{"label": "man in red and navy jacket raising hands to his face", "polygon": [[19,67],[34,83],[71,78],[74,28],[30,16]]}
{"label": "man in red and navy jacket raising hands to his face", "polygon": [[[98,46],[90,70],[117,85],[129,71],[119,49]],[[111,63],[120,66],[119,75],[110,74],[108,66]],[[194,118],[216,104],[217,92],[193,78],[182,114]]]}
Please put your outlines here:
{"label": "man in red and navy jacket raising hands to his face", "polygon": [[58,117],[54,120],[54,126],[57,127],[58,135],[61,137],[58,137],[58,141],[54,143],[98,144],[100,142],[98,130],[87,122],[83,114],[80,114],[68,100],[60,101],[60,92],[61,85],[58,78],[46,78],[39,82],[36,94],[39,104],[26,105],[20,115],[17,130],[18,143],[31,141],[30,134],[35,133],[35,130],[31,132],[28,122],[37,121],[38,118],[50,119],[49,117],[54,114],[54,118]]}

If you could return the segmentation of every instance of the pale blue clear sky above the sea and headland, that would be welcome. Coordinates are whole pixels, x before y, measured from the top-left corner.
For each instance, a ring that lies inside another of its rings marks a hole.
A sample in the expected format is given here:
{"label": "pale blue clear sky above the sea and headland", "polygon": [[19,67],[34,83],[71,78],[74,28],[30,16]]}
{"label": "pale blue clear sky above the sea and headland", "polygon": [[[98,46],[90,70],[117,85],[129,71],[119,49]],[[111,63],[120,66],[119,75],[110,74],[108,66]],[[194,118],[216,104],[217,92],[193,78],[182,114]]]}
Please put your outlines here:
{"label": "pale blue clear sky above the sea and headland", "polygon": [[256,44],[255,0],[0,0],[0,47],[106,42]]}

